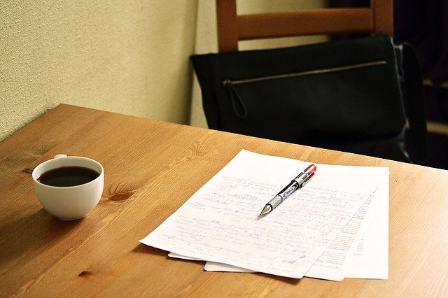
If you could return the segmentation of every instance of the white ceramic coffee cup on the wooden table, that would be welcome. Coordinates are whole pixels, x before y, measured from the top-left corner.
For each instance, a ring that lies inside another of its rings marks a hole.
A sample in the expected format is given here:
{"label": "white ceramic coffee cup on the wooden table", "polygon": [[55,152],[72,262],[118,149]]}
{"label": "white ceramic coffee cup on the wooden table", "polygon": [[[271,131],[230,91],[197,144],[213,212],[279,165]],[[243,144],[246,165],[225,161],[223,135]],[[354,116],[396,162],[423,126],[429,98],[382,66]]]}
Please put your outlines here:
{"label": "white ceramic coffee cup on the wooden table", "polygon": [[[50,186],[38,181],[45,172],[64,166],[82,166],[99,173],[90,182],[75,186]],[[78,220],[97,206],[104,189],[102,164],[87,157],[56,155],[32,172],[37,199],[46,211],[61,220]]]}

